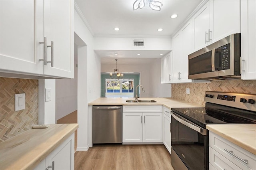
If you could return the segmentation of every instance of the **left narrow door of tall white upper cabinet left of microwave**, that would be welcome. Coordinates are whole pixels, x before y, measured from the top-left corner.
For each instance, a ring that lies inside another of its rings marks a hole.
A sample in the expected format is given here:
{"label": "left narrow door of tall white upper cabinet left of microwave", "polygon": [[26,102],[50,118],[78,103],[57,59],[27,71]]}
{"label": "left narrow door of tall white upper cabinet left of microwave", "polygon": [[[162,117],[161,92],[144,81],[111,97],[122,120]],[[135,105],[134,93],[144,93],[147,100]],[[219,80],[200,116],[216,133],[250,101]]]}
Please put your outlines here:
{"label": "left narrow door of tall white upper cabinet left of microwave", "polygon": [[182,55],[182,35],[178,32],[172,38],[172,83],[180,82],[181,71],[181,55]]}

